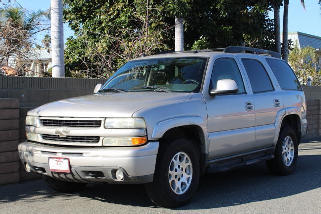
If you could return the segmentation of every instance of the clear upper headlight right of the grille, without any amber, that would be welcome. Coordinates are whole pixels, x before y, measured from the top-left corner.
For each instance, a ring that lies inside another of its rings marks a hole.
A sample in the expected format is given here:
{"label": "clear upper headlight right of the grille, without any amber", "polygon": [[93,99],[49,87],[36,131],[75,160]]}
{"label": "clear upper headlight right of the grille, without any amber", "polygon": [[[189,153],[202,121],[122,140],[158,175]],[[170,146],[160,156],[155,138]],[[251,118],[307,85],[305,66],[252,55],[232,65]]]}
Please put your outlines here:
{"label": "clear upper headlight right of the grille, without any amber", "polygon": [[145,120],[141,117],[106,118],[105,128],[107,128],[107,129],[136,129],[136,128],[146,128],[146,124],[145,124]]}

